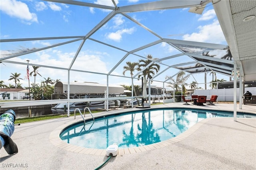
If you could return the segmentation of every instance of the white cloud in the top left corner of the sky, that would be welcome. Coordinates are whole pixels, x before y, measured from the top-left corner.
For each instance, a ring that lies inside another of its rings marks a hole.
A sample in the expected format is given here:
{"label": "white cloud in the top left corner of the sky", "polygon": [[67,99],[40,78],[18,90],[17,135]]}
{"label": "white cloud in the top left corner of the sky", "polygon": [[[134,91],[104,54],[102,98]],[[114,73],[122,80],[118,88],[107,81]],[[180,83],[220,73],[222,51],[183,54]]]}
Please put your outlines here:
{"label": "white cloud in the top left corner of the sky", "polygon": [[16,0],[1,0],[0,10],[7,15],[19,18],[23,22],[37,22],[37,16],[29,11],[27,4]]}

